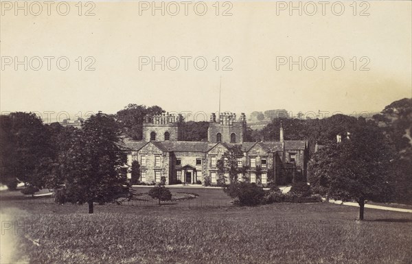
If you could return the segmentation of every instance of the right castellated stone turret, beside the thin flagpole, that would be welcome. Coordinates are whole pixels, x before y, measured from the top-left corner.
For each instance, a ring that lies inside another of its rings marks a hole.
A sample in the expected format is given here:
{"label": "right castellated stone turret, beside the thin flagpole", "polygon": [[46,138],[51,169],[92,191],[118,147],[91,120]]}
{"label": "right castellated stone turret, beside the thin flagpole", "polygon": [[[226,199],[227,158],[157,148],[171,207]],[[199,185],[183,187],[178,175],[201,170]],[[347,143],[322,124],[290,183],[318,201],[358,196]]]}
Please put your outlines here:
{"label": "right castellated stone turret, beside the thin flagpole", "polygon": [[246,115],[242,112],[240,118],[232,112],[221,112],[219,119],[211,113],[207,140],[210,143],[243,143],[246,136]]}

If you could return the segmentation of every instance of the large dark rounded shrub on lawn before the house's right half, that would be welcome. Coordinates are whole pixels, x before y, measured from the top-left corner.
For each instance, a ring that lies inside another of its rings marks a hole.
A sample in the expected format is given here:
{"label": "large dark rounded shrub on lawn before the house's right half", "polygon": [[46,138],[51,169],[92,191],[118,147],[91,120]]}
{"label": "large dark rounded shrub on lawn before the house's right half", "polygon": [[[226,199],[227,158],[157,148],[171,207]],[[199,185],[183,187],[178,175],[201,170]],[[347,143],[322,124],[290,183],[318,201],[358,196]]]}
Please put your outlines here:
{"label": "large dark rounded shrub on lawn before the house's right half", "polygon": [[236,198],[238,204],[243,206],[255,206],[263,202],[264,191],[255,183],[233,182],[224,189],[225,193],[231,198]]}

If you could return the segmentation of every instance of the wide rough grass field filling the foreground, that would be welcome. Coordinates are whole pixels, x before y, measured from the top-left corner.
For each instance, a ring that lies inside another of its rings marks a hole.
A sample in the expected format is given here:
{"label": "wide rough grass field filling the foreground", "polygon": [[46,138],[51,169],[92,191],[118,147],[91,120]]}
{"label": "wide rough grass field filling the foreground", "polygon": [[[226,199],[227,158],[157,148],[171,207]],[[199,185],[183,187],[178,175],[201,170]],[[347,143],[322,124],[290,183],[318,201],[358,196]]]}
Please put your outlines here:
{"label": "wide rough grass field filling the foreground", "polygon": [[[227,199],[203,190],[191,191],[205,202]],[[0,194],[2,221],[19,227],[2,226],[2,249],[5,240],[15,243],[9,262],[412,263],[410,213],[366,209],[360,222],[358,208],[326,203],[108,204],[89,215],[87,206],[30,204],[7,193]]]}

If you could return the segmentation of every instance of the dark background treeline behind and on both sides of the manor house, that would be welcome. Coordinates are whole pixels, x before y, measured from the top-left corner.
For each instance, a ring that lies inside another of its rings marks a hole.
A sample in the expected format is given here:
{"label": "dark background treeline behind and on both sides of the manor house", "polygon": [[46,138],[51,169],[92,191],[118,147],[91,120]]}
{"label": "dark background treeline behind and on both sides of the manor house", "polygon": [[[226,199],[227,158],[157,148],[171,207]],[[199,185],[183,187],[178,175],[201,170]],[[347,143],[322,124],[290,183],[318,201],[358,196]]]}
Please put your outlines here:
{"label": "dark background treeline behind and on both sides of the manor house", "polygon": [[[160,106],[146,107],[129,104],[115,115],[104,115],[113,122],[113,130],[118,136],[142,138],[142,123],[146,115],[160,115],[165,112]],[[99,115],[99,114],[98,114]],[[94,117],[98,116],[95,115]],[[92,119],[95,120],[95,119]],[[99,119],[100,120],[100,119]],[[87,121],[84,121],[87,122]],[[280,123],[284,127],[285,140],[308,140],[310,155],[314,146],[330,145],[336,142],[336,135],[343,138],[351,132],[354,125],[376,127],[396,151],[397,173],[396,201],[412,200],[412,99],[401,99],[386,106],[372,119],[334,115],[327,119],[290,119],[277,118],[263,130],[247,129],[246,141],[278,141]],[[186,141],[207,140],[208,122],[189,121],[185,123]],[[73,139],[82,132],[71,126],[59,123],[43,124],[34,113],[12,112],[1,116],[0,182],[15,188],[17,179],[26,184],[49,187],[56,184],[56,174],[65,160],[65,154],[73,147]],[[79,163],[80,166],[80,163]]]}

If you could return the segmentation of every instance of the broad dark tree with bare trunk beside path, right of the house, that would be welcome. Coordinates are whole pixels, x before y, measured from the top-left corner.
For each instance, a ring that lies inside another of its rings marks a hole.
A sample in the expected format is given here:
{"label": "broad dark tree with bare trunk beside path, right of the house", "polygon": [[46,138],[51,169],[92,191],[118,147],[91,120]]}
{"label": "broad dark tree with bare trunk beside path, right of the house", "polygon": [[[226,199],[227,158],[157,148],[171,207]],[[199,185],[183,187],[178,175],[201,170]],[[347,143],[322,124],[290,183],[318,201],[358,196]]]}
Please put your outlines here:
{"label": "broad dark tree with bare trunk beside path, right of the house", "polygon": [[314,154],[308,178],[314,191],[338,199],[354,199],[363,220],[365,201],[391,198],[393,149],[376,125],[354,125],[350,139],[332,143]]}

